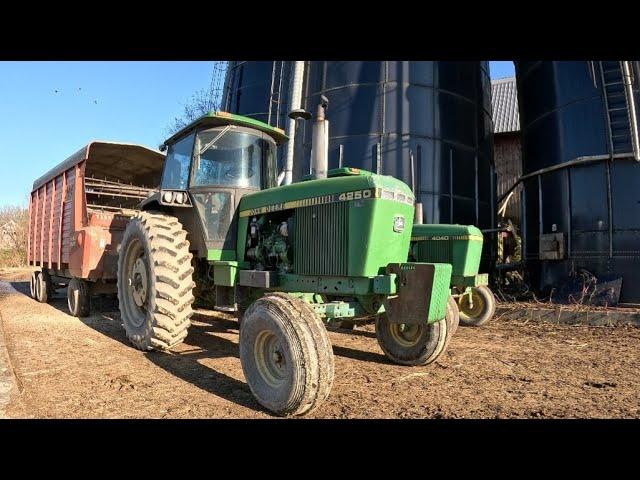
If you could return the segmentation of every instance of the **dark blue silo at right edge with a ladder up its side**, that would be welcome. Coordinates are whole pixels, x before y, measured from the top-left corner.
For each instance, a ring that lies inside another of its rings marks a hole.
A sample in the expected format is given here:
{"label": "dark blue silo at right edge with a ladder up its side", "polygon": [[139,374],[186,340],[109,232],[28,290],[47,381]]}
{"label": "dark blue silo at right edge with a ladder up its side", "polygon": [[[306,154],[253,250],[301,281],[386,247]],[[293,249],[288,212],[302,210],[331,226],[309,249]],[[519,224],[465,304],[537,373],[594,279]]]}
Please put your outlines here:
{"label": "dark blue silo at right edge with a ladder up its side", "polygon": [[637,62],[516,62],[524,252],[540,289],[582,268],[622,277],[620,300],[640,302],[638,73]]}

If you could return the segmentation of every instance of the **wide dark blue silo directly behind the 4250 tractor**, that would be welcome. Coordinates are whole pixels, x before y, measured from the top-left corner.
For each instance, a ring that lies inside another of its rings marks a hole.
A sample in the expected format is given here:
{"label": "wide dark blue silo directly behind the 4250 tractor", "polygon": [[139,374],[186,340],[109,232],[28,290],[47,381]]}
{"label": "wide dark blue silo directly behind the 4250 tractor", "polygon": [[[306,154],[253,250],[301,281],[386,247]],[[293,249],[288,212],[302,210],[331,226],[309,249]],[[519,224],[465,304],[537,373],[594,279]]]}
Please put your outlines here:
{"label": "wide dark blue silo directly behind the 4250 tractor", "polygon": [[[230,62],[223,108],[285,126],[294,62]],[[329,168],[412,184],[425,223],[494,226],[488,62],[308,61],[302,107],[329,99]],[[311,128],[299,122],[293,178],[309,173]],[[485,257],[494,257],[487,236]]]}

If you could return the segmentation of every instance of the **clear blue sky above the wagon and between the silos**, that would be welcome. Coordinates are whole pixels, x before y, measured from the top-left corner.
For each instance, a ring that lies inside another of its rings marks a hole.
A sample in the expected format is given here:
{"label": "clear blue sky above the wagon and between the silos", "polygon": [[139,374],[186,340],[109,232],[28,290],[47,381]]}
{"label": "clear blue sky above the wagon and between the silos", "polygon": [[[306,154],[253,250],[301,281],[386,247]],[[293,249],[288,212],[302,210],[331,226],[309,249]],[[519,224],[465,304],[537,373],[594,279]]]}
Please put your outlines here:
{"label": "clear blue sky above the wagon and between the silos", "polygon": [[33,181],[91,140],[157,147],[213,63],[0,62],[0,206],[28,205]]}

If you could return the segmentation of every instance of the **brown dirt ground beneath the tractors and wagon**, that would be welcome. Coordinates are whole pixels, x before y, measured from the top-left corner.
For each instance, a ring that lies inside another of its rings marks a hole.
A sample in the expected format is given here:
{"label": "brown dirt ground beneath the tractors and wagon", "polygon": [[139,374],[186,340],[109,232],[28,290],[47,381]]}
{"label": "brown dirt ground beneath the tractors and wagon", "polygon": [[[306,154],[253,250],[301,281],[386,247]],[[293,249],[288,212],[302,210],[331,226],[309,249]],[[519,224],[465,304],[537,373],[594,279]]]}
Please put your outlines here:
{"label": "brown dirt ground beneath the tractors and wagon", "polygon": [[[28,271],[0,270],[0,314],[26,418],[270,418],[238,358],[233,316],[198,312],[175,352],[127,343],[115,305],[90,318],[28,296]],[[13,288],[15,290],[13,290]],[[330,332],[335,382],[312,418],[638,418],[640,329],[494,319],[460,327],[446,354],[403,367],[372,326]]]}

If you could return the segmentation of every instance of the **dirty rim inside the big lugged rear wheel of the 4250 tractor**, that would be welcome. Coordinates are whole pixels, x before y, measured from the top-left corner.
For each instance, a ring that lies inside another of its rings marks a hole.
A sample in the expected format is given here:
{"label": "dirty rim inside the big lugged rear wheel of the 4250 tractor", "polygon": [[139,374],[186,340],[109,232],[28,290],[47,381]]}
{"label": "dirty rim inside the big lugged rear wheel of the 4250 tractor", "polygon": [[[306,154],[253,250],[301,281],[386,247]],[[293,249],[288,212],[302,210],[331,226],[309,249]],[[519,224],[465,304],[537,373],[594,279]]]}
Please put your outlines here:
{"label": "dirty rim inside the big lugged rear wheel of the 4250 tractor", "polygon": [[127,285],[127,300],[131,315],[129,322],[134,327],[140,327],[146,319],[146,307],[149,297],[149,274],[144,247],[139,240],[129,244],[125,258],[125,280]]}

